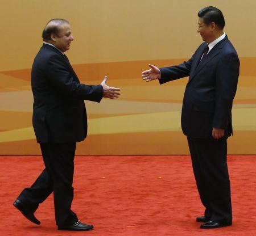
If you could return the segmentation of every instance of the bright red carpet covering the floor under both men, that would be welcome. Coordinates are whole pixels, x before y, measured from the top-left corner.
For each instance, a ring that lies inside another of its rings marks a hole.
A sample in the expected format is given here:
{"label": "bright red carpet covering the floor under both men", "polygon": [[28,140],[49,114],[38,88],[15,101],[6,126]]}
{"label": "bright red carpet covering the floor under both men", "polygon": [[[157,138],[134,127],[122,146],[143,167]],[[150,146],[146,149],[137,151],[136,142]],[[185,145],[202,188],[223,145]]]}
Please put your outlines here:
{"label": "bright red carpet covering the floor under both men", "polygon": [[57,231],[52,195],[33,225],[13,201],[43,170],[41,157],[0,157],[1,235],[256,235],[256,156],[229,156],[233,226],[199,229],[203,207],[188,156],[76,157],[72,209],[93,231]]}

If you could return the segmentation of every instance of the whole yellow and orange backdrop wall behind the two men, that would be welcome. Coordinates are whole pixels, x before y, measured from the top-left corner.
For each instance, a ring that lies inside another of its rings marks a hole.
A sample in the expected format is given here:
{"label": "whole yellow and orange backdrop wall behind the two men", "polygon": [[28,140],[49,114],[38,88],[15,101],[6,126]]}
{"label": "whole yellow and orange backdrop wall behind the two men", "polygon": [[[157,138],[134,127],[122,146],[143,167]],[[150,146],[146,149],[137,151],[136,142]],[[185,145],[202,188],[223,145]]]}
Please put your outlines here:
{"label": "whole yellow and orange backdrop wall behind the two men", "polygon": [[0,154],[40,154],[31,128],[30,69],[52,18],[69,20],[67,52],[86,84],[122,88],[119,100],[86,101],[89,137],[77,154],[188,154],[180,128],[187,78],[159,86],[140,78],[147,64],[175,65],[201,43],[197,12],[222,10],[241,74],[233,106],[230,154],[256,154],[256,1],[55,0],[1,1]]}

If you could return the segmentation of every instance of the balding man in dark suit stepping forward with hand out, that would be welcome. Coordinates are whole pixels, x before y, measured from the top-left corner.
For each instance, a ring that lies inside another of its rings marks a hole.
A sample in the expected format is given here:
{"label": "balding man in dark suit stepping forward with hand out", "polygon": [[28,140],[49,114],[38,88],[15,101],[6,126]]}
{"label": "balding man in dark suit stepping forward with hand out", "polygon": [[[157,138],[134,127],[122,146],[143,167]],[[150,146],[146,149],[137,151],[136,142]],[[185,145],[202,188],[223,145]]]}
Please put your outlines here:
{"label": "balding man in dark suit stepping forward with hand out", "polygon": [[14,206],[35,224],[34,212],[53,192],[56,225],[59,230],[91,230],[71,210],[76,142],[85,139],[87,118],[84,100],[100,102],[102,97],[119,97],[119,88],[84,85],[79,82],[67,56],[73,36],[69,22],[50,20],[43,31],[43,46],[31,71],[34,95],[33,127],[46,168],[31,187],[25,188]]}

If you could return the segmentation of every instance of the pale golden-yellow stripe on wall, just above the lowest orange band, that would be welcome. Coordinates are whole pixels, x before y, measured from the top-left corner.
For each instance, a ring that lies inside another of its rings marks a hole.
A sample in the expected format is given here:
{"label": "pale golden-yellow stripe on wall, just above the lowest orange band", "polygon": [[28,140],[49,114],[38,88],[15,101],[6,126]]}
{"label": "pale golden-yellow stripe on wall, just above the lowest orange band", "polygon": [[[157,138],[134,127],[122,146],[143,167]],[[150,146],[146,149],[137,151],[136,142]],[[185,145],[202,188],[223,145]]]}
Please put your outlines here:
{"label": "pale golden-yellow stripe on wall, just above the lowest orange band", "polygon": [[[88,134],[180,131],[180,111],[113,116],[88,120]],[[256,130],[256,108],[233,109],[234,130]],[[0,132],[0,142],[35,139],[32,127]]]}

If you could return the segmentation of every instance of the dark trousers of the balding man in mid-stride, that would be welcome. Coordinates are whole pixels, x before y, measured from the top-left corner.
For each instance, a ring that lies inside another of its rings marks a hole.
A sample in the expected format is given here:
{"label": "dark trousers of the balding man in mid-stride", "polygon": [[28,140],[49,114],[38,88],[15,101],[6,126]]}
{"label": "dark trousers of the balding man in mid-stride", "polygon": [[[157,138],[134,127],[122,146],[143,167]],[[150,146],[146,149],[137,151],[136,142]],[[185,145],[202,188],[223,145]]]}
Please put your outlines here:
{"label": "dark trousers of the balding man in mid-stride", "polygon": [[40,144],[45,169],[31,187],[25,188],[18,199],[35,211],[52,193],[56,225],[70,225],[78,221],[71,210],[76,143]]}

